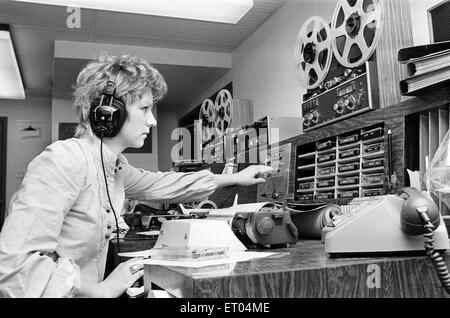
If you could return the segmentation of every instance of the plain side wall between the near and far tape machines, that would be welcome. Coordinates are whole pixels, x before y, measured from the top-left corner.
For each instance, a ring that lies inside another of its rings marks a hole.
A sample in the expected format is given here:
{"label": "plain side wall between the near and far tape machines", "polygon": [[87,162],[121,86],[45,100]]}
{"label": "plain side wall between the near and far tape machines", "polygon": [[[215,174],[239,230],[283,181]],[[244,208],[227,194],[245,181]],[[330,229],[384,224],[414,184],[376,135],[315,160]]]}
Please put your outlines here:
{"label": "plain side wall between the near and far tape machines", "polygon": [[297,34],[310,16],[331,21],[336,3],[288,1],[232,53],[232,70],[199,96],[189,110],[233,81],[234,98],[253,101],[254,119],[267,114],[300,117],[305,90],[295,73]]}

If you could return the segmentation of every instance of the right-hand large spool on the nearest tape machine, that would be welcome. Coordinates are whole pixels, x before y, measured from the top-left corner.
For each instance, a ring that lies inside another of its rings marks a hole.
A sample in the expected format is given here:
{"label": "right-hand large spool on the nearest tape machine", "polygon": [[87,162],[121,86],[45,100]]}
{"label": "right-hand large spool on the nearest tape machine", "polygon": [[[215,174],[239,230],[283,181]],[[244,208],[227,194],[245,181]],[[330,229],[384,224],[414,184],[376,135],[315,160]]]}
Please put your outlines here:
{"label": "right-hand large spool on the nearest tape machine", "polygon": [[336,60],[353,68],[374,53],[383,29],[380,0],[339,0],[331,22],[331,46]]}

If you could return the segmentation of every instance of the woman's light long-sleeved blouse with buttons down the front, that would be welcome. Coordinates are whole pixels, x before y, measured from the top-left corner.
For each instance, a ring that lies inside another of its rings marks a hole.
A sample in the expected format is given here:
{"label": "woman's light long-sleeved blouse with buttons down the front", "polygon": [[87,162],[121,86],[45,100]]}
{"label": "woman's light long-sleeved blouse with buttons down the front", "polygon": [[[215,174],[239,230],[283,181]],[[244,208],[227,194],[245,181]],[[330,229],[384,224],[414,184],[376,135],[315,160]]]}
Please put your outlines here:
{"label": "woman's light long-sleeved blouse with buttons down the front", "polygon": [[[127,199],[177,203],[202,200],[214,174],[150,172],[103,145],[114,211]],[[104,279],[115,228],[97,137],[56,141],[28,166],[0,233],[0,297],[68,297],[80,277]]]}

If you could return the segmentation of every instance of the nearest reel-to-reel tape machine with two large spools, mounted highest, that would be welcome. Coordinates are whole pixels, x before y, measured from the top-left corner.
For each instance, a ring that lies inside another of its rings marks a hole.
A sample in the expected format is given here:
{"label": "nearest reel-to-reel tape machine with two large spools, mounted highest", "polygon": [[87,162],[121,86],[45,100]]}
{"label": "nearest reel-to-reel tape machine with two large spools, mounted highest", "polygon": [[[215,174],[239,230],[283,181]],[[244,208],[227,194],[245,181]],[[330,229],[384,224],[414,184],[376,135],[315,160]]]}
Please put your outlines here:
{"label": "nearest reel-to-reel tape machine with two large spools, mounted highest", "polygon": [[305,21],[295,46],[303,95],[303,131],[379,107],[375,49],[383,29],[381,0],[339,0],[332,22]]}

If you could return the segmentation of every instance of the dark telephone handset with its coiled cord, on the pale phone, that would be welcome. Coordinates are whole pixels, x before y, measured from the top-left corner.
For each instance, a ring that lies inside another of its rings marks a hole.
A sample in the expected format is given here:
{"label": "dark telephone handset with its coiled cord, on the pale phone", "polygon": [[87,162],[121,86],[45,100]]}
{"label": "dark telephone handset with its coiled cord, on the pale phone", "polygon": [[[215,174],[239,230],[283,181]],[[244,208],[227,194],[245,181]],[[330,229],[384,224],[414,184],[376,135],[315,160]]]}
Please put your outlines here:
{"label": "dark telephone handset with its coiled cord, on the pale phone", "polygon": [[408,235],[423,234],[425,251],[435,265],[442,287],[450,295],[450,274],[442,254],[434,249],[434,230],[440,223],[439,209],[426,192],[416,188],[401,188],[398,192],[405,203],[400,214],[402,230]]}

